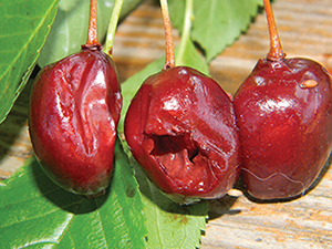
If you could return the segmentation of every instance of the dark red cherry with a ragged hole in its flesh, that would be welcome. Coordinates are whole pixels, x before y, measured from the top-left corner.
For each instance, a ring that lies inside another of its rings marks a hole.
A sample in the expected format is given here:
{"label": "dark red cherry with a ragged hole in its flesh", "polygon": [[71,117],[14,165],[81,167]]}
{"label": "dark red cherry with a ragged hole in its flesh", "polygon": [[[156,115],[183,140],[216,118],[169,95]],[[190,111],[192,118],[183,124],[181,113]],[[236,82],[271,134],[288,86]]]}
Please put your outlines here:
{"label": "dark red cherry with a ragged hole in its flesh", "polygon": [[183,203],[219,198],[239,177],[232,102],[194,69],[149,76],[128,108],[125,136],[151,180]]}

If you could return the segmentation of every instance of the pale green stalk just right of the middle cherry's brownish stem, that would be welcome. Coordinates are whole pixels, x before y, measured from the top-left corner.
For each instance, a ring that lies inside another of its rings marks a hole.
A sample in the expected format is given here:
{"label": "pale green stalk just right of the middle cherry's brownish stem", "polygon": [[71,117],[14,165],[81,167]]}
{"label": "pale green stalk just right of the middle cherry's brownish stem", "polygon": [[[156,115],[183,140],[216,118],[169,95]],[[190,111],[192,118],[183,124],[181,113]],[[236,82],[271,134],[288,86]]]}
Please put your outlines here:
{"label": "pale green stalk just right of the middle cherry's brownish stem", "polygon": [[193,18],[193,0],[186,0],[186,12],[185,12],[185,20],[184,27],[181,32],[181,40],[179,43],[178,54],[176,58],[176,64],[181,65],[184,64],[184,55],[186,51],[186,45],[188,40],[190,39],[190,30],[191,30],[191,18]]}

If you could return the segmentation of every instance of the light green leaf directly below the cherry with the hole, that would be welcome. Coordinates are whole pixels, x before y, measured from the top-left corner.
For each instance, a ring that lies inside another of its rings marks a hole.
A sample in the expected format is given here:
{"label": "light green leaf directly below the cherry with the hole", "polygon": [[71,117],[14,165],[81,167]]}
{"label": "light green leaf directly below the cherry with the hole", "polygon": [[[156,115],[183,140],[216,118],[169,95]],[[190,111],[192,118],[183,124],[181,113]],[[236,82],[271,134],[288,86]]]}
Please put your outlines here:
{"label": "light green leaf directly below the cherry with the hole", "polygon": [[188,206],[175,204],[147,179],[137,163],[133,165],[143,195],[144,210],[148,214],[148,248],[199,248],[201,234],[206,229],[208,201]]}

